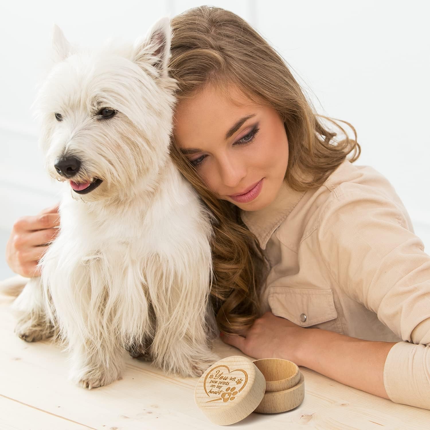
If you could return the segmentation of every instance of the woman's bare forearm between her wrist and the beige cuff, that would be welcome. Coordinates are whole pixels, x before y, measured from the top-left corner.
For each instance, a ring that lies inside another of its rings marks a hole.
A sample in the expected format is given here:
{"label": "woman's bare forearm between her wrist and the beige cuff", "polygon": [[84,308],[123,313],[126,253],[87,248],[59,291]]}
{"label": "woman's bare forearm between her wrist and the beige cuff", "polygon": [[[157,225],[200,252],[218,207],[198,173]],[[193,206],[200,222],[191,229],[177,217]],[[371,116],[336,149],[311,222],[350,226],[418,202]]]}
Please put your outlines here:
{"label": "woman's bare forearm between her wrist and the beige cuff", "polygon": [[296,364],[335,381],[388,399],[384,364],[396,342],[363,341],[321,329],[305,329]]}

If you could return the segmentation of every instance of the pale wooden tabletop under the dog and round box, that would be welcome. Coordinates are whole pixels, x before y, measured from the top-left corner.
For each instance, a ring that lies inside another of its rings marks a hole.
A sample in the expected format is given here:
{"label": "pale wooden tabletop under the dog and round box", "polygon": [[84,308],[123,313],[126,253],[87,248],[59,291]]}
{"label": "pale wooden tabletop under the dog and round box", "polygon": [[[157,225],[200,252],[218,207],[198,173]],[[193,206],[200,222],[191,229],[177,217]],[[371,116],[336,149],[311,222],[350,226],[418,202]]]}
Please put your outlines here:
{"label": "pale wooden tabletop under the dog and round box", "polygon": [[[129,357],[123,379],[92,390],[68,381],[66,353],[50,340],[27,343],[14,333],[13,298],[0,295],[0,429],[215,429],[194,403],[198,378],[166,376]],[[242,355],[217,340],[221,358]],[[252,357],[246,356],[250,359]],[[430,411],[400,405],[327,378],[306,367],[305,395],[295,409],[251,415],[229,428],[430,429]]]}

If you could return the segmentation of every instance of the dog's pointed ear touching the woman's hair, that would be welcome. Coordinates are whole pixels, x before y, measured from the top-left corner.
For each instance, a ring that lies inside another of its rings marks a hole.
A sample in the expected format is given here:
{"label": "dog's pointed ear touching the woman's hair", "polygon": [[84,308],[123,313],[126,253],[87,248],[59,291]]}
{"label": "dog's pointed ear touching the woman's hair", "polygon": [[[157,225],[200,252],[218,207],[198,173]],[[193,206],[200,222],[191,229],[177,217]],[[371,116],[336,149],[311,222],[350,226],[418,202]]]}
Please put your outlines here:
{"label": "dog's pointed ear touching the woman's hair", "polygon": [[170,18],[168,16],[160,18],[148,31],[146,37],[135,41],[133,61],[137,64],[150,62],[160,71],[161,77],[167,77],[171,38]]}

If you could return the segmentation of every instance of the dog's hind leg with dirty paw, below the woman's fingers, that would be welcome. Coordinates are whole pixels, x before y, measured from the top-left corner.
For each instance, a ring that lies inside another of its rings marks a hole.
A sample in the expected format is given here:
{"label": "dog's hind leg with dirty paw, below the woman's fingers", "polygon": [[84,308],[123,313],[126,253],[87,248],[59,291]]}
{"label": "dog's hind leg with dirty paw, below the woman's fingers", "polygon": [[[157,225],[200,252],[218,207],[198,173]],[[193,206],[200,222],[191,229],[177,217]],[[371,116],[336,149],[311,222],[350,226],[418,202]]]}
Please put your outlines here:
{"label": "dog's hind leg with dirty paw, below the woman's fingers", "polygon": [[27,342],[40,341],[58,335],[58,326],[46,313],[40,277],[31,278],[13,301],[12,310],[18,315],[15,333]]}

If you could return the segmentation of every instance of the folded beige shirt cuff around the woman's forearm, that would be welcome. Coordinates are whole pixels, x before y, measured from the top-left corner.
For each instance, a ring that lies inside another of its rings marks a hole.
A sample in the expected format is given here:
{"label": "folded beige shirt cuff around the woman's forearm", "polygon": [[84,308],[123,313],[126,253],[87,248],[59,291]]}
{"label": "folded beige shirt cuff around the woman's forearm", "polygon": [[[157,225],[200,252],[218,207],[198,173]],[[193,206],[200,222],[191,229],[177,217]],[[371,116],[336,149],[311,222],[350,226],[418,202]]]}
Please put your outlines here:
{"label": "folded beige shirt cuff around the woman's forearm", "polygon": [[384,364],[384,387],[395,403],[430,409],[430,346],[393,345]]}

